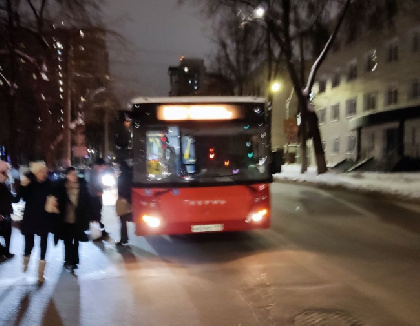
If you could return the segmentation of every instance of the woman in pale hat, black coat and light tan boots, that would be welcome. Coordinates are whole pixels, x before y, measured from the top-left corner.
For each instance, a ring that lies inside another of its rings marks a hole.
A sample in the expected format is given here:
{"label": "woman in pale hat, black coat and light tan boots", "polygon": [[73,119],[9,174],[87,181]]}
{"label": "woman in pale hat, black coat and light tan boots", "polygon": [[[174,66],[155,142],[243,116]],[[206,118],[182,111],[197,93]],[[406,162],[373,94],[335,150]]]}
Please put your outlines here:
{"label": "woman in pale hat, black coat and light tan boots", "polygon": [[40,261],[38,265],[38,282],[45,281],[45,255],[47,252],[48,233],[52,230],[51,214],[45,210],[47,197],[52,193],[52,183],[47,178],[47,167],[44,162],[32,162],[31,173],[21,181],[20,194],[25,201],[21,232],[25,236],[23,271],[28,270],[29,259],[34,247],[35,235],[40,236]]}

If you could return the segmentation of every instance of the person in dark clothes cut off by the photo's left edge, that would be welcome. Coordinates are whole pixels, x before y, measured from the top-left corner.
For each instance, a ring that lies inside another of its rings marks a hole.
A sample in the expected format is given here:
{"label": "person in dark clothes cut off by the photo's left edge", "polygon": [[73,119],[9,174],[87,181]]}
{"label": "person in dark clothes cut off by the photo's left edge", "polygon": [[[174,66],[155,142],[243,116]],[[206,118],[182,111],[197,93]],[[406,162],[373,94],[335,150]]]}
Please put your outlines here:
{"label": "person in dark clothes cut off by the photo's left edge", "polygon": [[0,233],[4,238],[4,246],[0,244],[0,258],[13,258],[10,253],[10,238],[12,235],[12,203],[19,202],[19,197],[13,196],[8,185],[9,164],[0,160]]}

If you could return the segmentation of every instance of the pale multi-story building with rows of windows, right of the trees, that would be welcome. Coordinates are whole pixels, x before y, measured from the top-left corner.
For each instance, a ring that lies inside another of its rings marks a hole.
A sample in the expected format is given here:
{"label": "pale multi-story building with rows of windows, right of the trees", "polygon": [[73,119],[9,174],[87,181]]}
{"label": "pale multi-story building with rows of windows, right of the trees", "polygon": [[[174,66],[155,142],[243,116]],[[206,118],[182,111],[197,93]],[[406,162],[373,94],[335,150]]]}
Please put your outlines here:
{"label": "pale multi-story building with rows of windows, right of the trees", "polygon": [[420,159],[420,5],[410,3],[382,26],[343,29],[317,74],[313,103],[330,165],[373,158],[392,169]]}

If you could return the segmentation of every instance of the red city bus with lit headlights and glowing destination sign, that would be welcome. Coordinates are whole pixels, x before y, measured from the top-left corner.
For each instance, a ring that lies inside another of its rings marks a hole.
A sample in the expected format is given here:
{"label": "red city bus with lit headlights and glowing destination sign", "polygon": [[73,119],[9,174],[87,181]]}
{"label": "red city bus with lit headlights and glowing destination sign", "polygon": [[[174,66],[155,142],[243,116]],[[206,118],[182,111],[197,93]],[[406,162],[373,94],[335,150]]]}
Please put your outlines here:
{"label": "red city bus with lit headlights and glowing destination sign", "polygon": [[255,97],[135,98],[137,235],[270,227],[270,121]]}

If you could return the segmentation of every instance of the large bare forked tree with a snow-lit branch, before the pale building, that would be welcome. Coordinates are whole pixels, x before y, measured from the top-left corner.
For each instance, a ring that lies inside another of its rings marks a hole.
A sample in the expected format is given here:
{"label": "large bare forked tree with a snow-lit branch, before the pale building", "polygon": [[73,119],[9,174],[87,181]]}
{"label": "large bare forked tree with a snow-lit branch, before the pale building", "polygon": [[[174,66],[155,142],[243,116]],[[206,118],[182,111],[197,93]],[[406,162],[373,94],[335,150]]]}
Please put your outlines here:
{"label": "large bare forked tree with a snow-lit branch, before the pale building", "polygon": [[[183,2],[183,1],[181,1]],[[219,15],[224,8],[240,8],[248,12],[249,21],[261,26],[270,36],[265,40],[274,40],[279,50],[278,56],[284,56],[294,91],[299,100],[301,115],[300,138],[302,153],[302,172],[307,169],[306,140],[313,140],[313,147],[318,166],[318,173],[326,172],[325,154],[322,148],[321,136],[316,113],[311,109],[310,93],[315,82],[316,73],[325,60],[345,14],[350,7],[351,0],[207,0],[206,12]],[[333,5],[338,6],[335,22],[332,19]],[[255,19],[252,13],[258,8],[264,10],[264,16]],[[234,18],[232,17],[232,21]],[[331,29],[332,26],[332,29]],[[330,27],[331,31],[326,33]],[[323,34],[322,34],[323,33]],[[321,35],[320,35],[321,34]],[[314,37],[316,36],[316,37]],[[323,36],[323,37],[322,37]],[[323,41],[323,44],[320,44]],[[265,47],[264,47],[265,48]],[[305,52],[315,52],[316,60],[311,72],[305,80],[304,67]],[[267,52],[270,53],[270,52]],[[271,60],[268,60],[269,64]],[[269,69],[271,70],[271,69]],[[269,75],[273,75],[269,73]]]}

